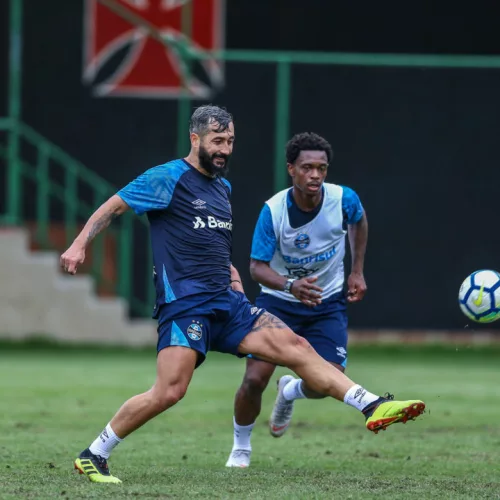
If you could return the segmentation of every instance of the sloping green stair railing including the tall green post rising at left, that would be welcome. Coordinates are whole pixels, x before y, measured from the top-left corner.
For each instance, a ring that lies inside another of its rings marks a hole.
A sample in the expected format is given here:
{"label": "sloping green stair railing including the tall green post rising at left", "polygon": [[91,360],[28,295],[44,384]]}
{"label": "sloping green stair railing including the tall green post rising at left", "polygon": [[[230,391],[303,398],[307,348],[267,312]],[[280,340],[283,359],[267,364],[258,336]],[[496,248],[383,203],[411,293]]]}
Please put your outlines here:
{"label": "sloping green stair railing including the tall green post rising at left", "polygon": [[[51,204],[59,202],[62,210],[65,245],[73,241],[80,225],[92,214],[92,212],[116,189],[92,170],[86,168],[76,159],[72,158],[61,148],[33,130],[21,120],[21,83],[22,83],[22,16],[23,1],[10,0],[9,11],[9,116],[0,117],[0,133],[7,136],[6,141],[0,141],[0,161],[3,159],[6,165],[5,182],[5,211],[0,214],[3,224],[18,225],[27,222],[24,209],[23,197],[24,181],[29,180],[36,185],[34,200],[34,223],[35,231],[33,237],[36,243],[45,249],[55,249],[50,239],[50,227],[52,220],[58,219],[51,214]],[[23,154],[25,148],[35,151],[36,159],[30,161]],[[54,171],[59,167],[63,172],[62,182],[55,180]],[[79,188],[90,192],[90,199],[84,201],[79,195]],[[117,223],[108,229],[106,235],[110,235],[117,247],[116,252],[116,283],[108,283],[104,278],[103,266],[105,264],[105,239],[100,235],[92,244],[91,269],[90,272],[96,279],[98,287],[105,287],[109,291],[117,293],[130,304],[131,311],[141,316],[151,314],[154,303],[154,288],[151,280],[152,255],[147,251],[147,259],[142,263],[143,273],[146,278],[144,287],[144,298],[138,298],[140,294],[134,293],[134,263],[132,248],[136,239],[138,225],[147,226],[145,218],[136,218],[131,213],[126,213]],[[58,251],[64,250],[57,248]],[[113,262],[114,263],[114,262]],[[116,285],[116,288],[115,288]]]}

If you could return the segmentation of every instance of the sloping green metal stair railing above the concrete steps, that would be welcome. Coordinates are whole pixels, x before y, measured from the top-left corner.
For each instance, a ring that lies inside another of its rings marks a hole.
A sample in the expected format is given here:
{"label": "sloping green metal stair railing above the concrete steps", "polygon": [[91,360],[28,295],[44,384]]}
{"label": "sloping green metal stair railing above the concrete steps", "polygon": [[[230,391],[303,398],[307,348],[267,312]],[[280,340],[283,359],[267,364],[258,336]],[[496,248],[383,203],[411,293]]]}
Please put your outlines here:
{"label": "sloping green metal stair railing above the concrete steps", "polygon": [[[2,216],[2,222],[8,225],[27,222],[22,193],[23,181],[30,180],[36,185],[34,240],[43,249],[63,250],[56,248],[49,237],[51,221],[58,218],[51,215],[51,203],[59,202],[59,206],[62,207],[62,210],[58,210],[58,215],[62,214],[64,243],[67,247],[72,243],[83,222],[88,219],[96,207],[116,193],[116,189],[26,124],[22,122],[12,124],[8,120],[2,119],[0,120],[0,131],[7,132],[10,136],[15,133],[20,149],[16,157],[9,161],[8,146],[0,143],[0,159],[3,158],[8,164],[7,210]],[[21,150],[23,148],[21,146],[26,147],[27,145],[33,147],[35,151],[36,161],[34,164],[25,161],[22,157]],[[56,182],[53,179],[54,171],[57,169],[63,172],[62,182]],[[18,186],[18,188],[12,190],[12,186]],[[80,190],[91,193],[89,201],[82,200],[79,194]],[[145,283],[147,299],[141,301],[132,293],[132,270],[134,267],[132,248],[135,239],[134,224],[137,223],[147,226],[145,218],[137,218],[132,213],[127,212],[106,231],[106,235],[110,235],[118,249],[116,252],[116,288],[115,283],[108,282],[104,277],[104,235],[98,236],[92,244],[90,272],[98,287],[116,292],[120,297],[129,301],[133,313],[145,316],[151,313],[151,307],[154,303],[154,289],[151,284],[151,273],[147,272],[145,273],[147,276]],[[146,266],[148,270],[151,270],[151,252],[148,252],[148,259],[149,262]]]}

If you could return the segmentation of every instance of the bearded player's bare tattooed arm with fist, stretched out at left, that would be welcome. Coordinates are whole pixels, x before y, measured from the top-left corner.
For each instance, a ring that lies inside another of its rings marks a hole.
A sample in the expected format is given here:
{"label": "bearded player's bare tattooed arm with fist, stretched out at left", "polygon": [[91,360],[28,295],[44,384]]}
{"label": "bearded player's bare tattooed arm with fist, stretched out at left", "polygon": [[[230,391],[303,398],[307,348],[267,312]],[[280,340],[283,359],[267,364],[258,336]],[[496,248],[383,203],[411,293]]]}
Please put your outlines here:
{"label": "bearded player's bare tattooed arm with fist, stretched out at left", "polygon": [[69,274],[76,274],[85,260],[85,249],[110,222],[126,212],[129,206],[116,194],[103,203],[90,217],[72,245],[61,255],[61,267]]}

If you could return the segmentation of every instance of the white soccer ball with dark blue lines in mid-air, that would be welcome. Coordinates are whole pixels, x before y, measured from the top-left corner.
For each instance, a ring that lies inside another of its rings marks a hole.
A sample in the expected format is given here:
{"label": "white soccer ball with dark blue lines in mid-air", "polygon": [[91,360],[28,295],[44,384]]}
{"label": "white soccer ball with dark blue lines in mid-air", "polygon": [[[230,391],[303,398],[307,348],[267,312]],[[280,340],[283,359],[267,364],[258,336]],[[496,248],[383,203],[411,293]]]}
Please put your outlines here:
{"label": "white soccer ball with dark blue lines in mid-air", "polygon": [[500,274],[490,269],[473,272],[462,283],[458,302],[462,312],[477,323],[500,319]]}

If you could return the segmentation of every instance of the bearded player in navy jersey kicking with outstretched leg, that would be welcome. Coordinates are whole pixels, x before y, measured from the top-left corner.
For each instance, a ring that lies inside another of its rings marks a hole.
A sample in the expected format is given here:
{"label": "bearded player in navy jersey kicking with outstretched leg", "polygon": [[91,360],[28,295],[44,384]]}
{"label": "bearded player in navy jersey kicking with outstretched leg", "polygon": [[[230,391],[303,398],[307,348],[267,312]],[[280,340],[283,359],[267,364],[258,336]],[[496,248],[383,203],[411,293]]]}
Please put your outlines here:
{"label": "bearded player in navy jersey kicking with outstretched leg", "polygon": [[231,264],[231,187],[224,175],[234,145],[232,116],[219,107],[202,106],[193,113],[189,132],[191,151],[186,158],[147,170],[112,196],[61,256],[62,268],[75,274],[89,243],[114,217],[128,209],[147,214],[157,297],[156,381],[121,406],[80,453],[75,468],[93,482],[119,483],[108,469],[111,451],[184,396],[208,350],[252,354],[287,366],[311,390],[363,412],[371,431],[420,415],[423,402],[369,393],[281,320],[247,300]]}

